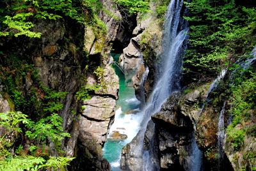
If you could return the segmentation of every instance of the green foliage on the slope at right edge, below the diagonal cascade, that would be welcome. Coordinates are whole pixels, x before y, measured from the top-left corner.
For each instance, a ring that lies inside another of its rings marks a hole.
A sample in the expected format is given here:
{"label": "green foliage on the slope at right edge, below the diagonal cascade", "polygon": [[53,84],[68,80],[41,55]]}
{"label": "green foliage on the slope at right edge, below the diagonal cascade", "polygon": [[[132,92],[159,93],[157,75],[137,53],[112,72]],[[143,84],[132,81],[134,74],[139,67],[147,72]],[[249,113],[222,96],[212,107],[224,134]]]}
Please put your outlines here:
{"label": "green foliage on the slope at right edge, below the diagonal cascade", "polygon": [[[239,151],[244,144],[244,136],[246,133],[255,136],[255,126],[244,128],[244,122],[249,121],[252,114],[249,112],[256,107],[255,92],[256,92],[256,74],[249,70],[247,77],[239,77],[235,84],[231,87],[231,107],[230,114],[232,115],[232,123],[227,128],[227,140],[231,142],[233,148]],[[240,125],[237,128],[237,125]]]}

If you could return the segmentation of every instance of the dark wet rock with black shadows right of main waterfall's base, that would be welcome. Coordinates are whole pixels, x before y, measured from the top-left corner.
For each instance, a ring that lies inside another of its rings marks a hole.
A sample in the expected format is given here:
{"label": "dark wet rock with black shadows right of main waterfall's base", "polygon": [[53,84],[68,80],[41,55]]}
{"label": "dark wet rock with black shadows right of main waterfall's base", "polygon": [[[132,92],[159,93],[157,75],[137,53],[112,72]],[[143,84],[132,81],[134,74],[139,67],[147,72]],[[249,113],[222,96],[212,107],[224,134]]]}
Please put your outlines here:
{"label": "dark wet rock with black shadows right of main waterfall's base", "polygon": [[161,169],[189,169],[193,124],[188,116],[180,113],[179,98],[180,94],[173,94],[164,102],[160,112],[152,116],[156,124]]}

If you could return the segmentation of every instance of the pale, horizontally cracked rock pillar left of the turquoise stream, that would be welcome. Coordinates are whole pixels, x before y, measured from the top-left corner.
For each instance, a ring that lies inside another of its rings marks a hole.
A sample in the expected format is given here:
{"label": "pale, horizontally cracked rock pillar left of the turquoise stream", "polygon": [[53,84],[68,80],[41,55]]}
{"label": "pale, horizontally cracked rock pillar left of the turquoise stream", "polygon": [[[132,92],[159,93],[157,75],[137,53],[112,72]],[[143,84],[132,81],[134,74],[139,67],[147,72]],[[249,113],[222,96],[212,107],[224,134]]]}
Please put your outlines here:
{"label": "pale, horizontally cracked rock pillar left of the turquoise stream", "polygon": [[[109,170],[108,162],[102,158],[102,147],[106,142],[109,125],[115,115],[119,84],[118,77],[110,66],[104,68],[102,77],[104,78],[99,78],[102,82],[99,82],[92,74],[88,74],[87,77],[86,84],[104,84],[104,90],[96,91],[95,96],[82,103],[83,111],[78,123],[77,140],[79,160],[72,164],[73,170]],[[81,161],[92,165],[83,167]]]}

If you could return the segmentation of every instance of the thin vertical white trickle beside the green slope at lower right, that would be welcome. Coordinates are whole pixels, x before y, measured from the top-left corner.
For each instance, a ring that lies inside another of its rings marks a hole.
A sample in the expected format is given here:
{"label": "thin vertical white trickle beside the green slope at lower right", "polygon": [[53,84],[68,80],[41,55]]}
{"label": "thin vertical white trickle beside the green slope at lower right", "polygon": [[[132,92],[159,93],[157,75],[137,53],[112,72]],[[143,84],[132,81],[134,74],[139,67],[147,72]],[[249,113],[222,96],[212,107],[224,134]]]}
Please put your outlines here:
{"label": "thin vertical white trickle beside the green slope at lower right", "polygon": [[225,125],[224,125],[224,112],[226,107],[226,101],[223,104],[223,107],[220,112],[219,121],[218,121],[218,152],[219,152],[219,160],[218,160],[218,168],[221,170],[221,161],[224,158],[223,151],[223,143],[225,138]]}

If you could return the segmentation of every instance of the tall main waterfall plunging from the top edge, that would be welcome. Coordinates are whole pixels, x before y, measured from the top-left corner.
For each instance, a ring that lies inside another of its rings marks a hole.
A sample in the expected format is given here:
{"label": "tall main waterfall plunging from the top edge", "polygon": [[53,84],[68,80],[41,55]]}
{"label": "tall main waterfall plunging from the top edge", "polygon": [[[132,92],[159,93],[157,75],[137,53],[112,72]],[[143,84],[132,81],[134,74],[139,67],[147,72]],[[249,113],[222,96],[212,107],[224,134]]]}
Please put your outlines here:
{"label": "tall main waterfall plunging from the top edge", "polygon": [[[166,98],[180,89],[182,56],[184,53],[182,47],[188,33],[188,25],[183,22],[181,16],[182,6],[183,0],[172,0],[168,6],[164,22],[162,61],[159,65],[160,68],[157,68],[159,78],[143,109],[141,130],[137,137],[140,140],[135,151],[143,150],[143,137],[151,115],[159,112]],[[152,145],[150,146],[152,147]],[[159,170],[159,166],[154,165],[154,161],[152,161],[151,151],[152,149],[143,151],[143,170]]]}

